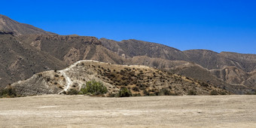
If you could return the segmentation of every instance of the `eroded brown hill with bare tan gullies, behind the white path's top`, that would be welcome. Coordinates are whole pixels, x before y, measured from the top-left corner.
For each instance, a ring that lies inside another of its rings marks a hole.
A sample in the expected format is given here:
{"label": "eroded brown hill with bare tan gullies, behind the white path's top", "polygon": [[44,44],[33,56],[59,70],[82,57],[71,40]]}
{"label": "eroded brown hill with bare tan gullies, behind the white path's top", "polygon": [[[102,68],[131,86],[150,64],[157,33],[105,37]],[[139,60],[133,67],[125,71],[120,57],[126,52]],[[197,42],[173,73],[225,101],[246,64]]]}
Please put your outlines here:
{"label": "eroded brown hill with bare tan gullies, behind the white path's top", "polygon": [[49,53],[71,65],[82,59],[122,64],[116,53],[102,47],[95,37],[73,35],[22,35],[20,41],[30,44],[38,50]]}

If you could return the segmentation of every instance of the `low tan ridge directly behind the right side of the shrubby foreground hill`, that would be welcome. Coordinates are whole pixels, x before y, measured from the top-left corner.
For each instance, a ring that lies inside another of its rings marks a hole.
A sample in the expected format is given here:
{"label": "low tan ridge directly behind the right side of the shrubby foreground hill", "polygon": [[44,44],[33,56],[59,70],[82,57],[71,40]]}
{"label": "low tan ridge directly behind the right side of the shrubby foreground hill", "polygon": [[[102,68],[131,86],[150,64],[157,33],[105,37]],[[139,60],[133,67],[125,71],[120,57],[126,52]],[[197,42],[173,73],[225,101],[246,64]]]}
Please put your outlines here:
{"label": "low tan ridge directly behind the right side of the shrubby foreground hill", "polygon": [[217,78],[215,75],[209,72],[208,69],[205,69],[194,62],[150,58],[148,56],[134,56],[133,58],[126,59],[125,63],[151,66],[153,68],[162,69],[174,74],[185,76],[187,78],[200,80],[202,83],[212,84],[214,87],[225,89],[236,94],[248,93],[253,90],[251,87],[245,87],[242,84],[233,85],[232,83],[227,83],[229,81],[225,82],[225,80]]}

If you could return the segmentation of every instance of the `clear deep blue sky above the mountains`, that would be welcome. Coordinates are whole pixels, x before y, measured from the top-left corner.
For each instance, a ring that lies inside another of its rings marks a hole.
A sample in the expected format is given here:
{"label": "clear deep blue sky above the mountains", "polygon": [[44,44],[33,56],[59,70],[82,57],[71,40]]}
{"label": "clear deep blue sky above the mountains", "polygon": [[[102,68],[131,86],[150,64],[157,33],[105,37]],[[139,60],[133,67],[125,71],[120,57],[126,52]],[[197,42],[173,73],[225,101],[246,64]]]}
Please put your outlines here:
{"label": "clear deep blue sky above the mountains", "polygon": [[0,14],[59,35],[256,53],[254,0],[1,0]]}

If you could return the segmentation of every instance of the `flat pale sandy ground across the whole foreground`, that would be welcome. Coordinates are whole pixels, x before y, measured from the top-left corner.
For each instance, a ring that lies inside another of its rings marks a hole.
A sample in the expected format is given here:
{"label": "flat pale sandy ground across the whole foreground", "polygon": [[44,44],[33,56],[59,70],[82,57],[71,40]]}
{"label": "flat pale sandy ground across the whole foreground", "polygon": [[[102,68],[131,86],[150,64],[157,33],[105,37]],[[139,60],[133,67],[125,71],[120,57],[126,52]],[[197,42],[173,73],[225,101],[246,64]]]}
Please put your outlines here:
{"label": "flat pale sandy ground across the whole foreground", "polygon": [[0,99],[0,127],[256,127],[256,96]]}

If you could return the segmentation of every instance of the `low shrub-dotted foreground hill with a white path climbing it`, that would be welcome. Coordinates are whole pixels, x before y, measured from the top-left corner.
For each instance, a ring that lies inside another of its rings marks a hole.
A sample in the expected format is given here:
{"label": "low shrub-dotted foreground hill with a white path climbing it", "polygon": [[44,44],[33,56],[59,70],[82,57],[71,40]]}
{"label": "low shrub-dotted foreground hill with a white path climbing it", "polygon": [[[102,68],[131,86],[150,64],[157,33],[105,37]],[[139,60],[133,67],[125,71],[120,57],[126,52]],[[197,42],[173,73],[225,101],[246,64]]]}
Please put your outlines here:
{"label": "low shrub-dotted foreground hill with a white path climbing it", "polygon": [[33,75],[26,81],[11,84],[21,96],[49,93],[64,93],[71,89],[80,90],[87,81],[100,81],[107,88],[106,96],[127,87],[139,96],[155,95],[160,90],[168,90],[173,95],[187,95],[193,91],[197,95],[209,95],[212,90],[227,94],[226,90],[203,84],[194,79],[162,72],[148,66],[114,65],[93,60],[81,60],[66,69],[47,71]]}

